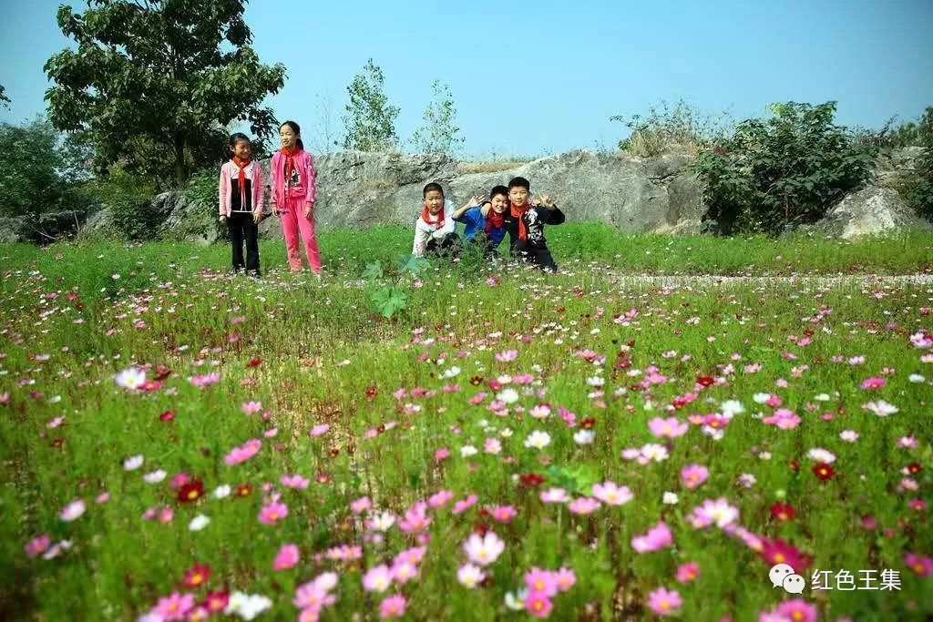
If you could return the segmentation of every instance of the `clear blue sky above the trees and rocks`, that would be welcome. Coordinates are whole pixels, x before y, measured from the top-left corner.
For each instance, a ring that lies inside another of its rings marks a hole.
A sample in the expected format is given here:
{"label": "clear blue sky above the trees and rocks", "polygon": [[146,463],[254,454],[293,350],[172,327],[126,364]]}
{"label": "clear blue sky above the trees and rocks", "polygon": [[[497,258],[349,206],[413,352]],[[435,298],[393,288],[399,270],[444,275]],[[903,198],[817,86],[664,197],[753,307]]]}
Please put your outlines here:
{"label": "clear blue sky above the trees and rocks", "polygon": [[[42,65],[65,47],[59,0],[0,0],[0,120],[44,110]],[[78,6],[79,3],[73,3]],[[246,10],[264,62],[284,62],[269,103],[311,146],[341,129],[346,86],[369,57],[401,107],[403,139],[439,78],[471,155],[612,146],[630,116],[684,98],[709,114],[761,116],[777,101],[839,102],[837,120],[878,126],[933,105],[933,0],[816,2],[299,2]]]}

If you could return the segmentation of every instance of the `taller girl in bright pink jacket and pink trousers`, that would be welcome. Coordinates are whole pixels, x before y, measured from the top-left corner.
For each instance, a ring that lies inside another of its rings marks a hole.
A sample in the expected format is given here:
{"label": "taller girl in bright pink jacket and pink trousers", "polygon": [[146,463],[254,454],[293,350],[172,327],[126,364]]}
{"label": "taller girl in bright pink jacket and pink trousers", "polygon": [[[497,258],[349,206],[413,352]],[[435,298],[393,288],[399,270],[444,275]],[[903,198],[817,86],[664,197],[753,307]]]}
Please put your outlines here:
{"label": "taller girl in bright pink jacket and pink trousers", "polygon": [[304,150],[301,129],[295,121],[279,127],[282,148],[272,154],[272,213],[282,221],[288,266],[301,270],[299,232],[304,252],[314,274],[321,271],[321,254],[314,237],[314,159]]}

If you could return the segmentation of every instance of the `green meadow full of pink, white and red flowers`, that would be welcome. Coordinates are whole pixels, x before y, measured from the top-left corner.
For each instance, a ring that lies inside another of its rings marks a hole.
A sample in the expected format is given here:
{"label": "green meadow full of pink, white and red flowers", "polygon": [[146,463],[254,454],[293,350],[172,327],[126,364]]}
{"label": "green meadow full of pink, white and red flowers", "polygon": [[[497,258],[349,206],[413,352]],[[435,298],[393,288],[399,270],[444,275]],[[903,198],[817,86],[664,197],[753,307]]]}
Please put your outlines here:
{"label": "green meadow full of pink, white and red flowers", "polygon": [[0,611],[933,615],[933,285],[610,282],[929,274],[933,238],[550,237],[564,273],[390,271],[391,319],[358,282],[400,229],[322,234],[322,281],[281,242],[259,281],[223,245],[4,246]]}

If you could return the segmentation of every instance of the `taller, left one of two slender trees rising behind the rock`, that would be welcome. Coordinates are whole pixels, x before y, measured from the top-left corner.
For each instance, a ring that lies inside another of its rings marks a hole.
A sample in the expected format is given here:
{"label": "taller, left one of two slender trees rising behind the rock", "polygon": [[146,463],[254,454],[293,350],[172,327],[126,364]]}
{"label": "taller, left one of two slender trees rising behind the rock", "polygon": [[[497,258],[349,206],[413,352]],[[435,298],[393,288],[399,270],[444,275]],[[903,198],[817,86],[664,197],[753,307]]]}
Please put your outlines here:
{"label": "taller, left one of two slender trees rising behind the rock", "polygon": [[372,59],[357,74],[350,86],[343,124],[346,135],[343,147],[360,151],[384,151],[398,144],[396,118],[398,107],[385,96],[383,70]]}

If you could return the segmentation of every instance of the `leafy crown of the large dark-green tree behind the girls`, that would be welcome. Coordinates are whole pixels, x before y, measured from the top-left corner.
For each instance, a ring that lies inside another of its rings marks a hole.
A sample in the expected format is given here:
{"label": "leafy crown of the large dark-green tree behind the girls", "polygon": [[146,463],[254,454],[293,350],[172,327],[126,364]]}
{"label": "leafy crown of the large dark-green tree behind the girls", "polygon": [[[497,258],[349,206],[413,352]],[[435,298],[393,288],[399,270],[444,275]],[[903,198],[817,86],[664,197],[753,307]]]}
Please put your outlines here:
{"label": "leafy crown of the large dark-green tree behind the girls", "polygon": [[[223,157],[225,127],[276,129],[263,98],[285,83],[250,47],[245,0],[90,0],[62,6],[58,24],[77,49],[49,58],[46,91],[56,128],[88,135],[97,164],[181,185],[192,165]],[[204,160],[207,161],[204,161]]]}

